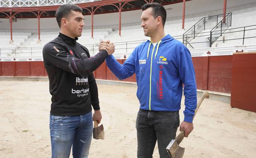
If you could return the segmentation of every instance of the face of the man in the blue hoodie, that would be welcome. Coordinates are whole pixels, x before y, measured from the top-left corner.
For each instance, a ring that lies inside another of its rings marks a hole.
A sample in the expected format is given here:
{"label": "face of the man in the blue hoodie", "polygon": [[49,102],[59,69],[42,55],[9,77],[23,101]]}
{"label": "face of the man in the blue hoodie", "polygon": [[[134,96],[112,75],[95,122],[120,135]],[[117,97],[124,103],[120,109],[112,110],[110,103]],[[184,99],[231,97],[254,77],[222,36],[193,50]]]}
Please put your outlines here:
{"label": "face of the man in the blue hoodie", "polygon": [[143,27],[144,35],[151,37],[157,31],[157,18],[152,15],[152,8],[145,9],[141,14],[141,27]]}

